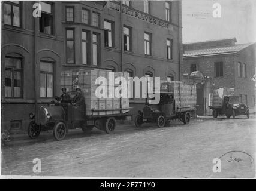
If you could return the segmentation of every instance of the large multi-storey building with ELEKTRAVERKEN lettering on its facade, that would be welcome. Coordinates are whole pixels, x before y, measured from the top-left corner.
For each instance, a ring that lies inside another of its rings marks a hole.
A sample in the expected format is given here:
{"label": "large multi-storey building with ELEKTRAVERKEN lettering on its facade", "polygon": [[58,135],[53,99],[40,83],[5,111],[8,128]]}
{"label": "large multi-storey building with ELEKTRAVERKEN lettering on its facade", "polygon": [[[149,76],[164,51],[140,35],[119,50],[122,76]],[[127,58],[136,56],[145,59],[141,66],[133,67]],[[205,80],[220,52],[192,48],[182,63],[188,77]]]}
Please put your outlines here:
{"label": "large multi-storey building with ELEKTRAVERKEN lettering on its facade", "polygon": [[[180,79],[180,1],[41,2],[41,17],[34,3],[2,2],[2,129],[26,130],[29,113],[59,96],[62,70]],[[143,104],[131,99],[131,112]]]}

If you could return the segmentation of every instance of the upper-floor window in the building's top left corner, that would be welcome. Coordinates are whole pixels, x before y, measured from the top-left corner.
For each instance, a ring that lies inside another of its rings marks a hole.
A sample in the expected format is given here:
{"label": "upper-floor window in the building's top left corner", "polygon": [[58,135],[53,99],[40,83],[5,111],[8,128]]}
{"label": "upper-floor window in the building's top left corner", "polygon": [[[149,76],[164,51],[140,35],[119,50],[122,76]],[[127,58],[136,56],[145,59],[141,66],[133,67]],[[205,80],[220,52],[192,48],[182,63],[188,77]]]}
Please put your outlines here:
{"label": "upper-floor window in the building's top left corner", "polygon": [[4,24],[20,27],[20,2],[4,2]]}

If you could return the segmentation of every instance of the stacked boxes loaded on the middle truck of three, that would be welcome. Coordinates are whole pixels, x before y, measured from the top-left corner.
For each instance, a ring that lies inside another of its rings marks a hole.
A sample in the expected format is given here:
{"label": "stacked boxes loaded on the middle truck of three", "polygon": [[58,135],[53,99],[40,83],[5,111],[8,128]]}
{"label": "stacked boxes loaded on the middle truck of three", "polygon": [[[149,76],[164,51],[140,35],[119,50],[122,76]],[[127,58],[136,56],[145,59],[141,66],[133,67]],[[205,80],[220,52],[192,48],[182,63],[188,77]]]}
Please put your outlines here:
{"label": "stacked boxes loaded on the middle truck of three", "polygon": [[167,88],[168,92],[174,93],[175,106],[191,107],[197,104],[197,87],[195,84],[183,84],[180,81],[161,81],[161,91],[163,87]]}

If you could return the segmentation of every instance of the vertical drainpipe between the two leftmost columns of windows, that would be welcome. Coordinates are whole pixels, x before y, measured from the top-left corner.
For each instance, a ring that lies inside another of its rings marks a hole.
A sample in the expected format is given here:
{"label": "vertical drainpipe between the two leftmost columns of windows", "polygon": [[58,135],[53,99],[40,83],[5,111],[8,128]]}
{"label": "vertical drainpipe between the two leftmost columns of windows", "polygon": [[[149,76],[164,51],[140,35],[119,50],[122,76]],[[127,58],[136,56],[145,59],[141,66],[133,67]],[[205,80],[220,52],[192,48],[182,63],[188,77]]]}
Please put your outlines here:
{"label": "vertical drainpipe between the two leftmost columns of windows", "polygon": [[[39,2],[38,2],[39,3]],[[38,110],[37,106],[37,17],[34,17],[34,101],[35,101],[35,116]]]}

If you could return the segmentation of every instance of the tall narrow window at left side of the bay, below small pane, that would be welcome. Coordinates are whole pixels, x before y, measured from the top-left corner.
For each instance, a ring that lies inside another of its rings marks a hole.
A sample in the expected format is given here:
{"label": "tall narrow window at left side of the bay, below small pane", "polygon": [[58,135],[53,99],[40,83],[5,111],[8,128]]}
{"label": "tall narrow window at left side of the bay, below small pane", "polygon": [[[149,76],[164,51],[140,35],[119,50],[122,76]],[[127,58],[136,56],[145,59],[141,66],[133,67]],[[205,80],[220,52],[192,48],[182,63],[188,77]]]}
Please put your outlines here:
{"label": "tall narrow window at left side of the bay, below small pane", "polygon": [[67,64],[74,64],[74,29],[67,29]]}

